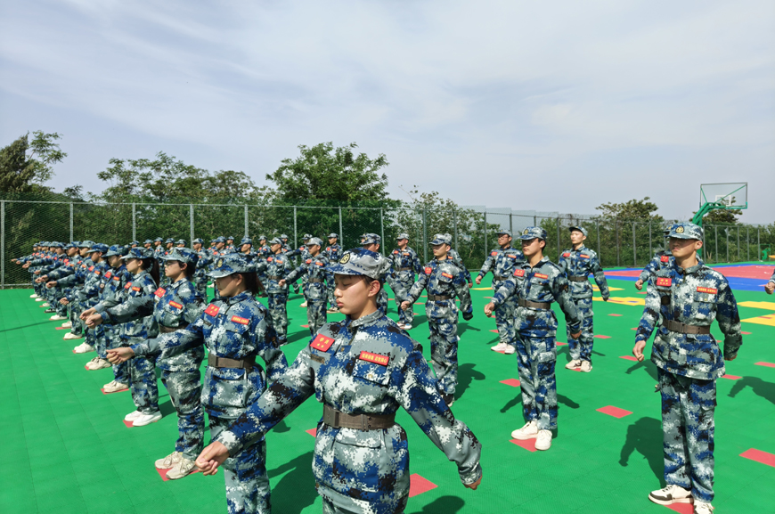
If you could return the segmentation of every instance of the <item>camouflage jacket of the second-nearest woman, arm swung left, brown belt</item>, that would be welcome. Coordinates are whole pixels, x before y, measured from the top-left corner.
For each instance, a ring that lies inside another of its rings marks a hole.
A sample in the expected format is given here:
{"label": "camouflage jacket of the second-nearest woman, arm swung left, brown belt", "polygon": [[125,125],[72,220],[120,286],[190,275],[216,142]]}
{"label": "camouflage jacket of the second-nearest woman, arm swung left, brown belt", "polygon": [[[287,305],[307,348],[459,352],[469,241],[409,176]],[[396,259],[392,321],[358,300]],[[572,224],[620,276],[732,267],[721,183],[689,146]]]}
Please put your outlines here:
{"label": "camouflage jacket of the second-nearest woman, arm swung left, brown belt", "polygon": [[[260,356],[270,380],[288,370],[285,355],[276,347],[277,336],[266,307],[248,292],[213,301],[183,330],[148,339],[132,347],[135,355],[159,355],[162,360],[205,345],[210,355],[243,360]],[[254,404],[266,389],[261,365],[252,370],[208,366],[202,404],[210,416],[234,419]]]}

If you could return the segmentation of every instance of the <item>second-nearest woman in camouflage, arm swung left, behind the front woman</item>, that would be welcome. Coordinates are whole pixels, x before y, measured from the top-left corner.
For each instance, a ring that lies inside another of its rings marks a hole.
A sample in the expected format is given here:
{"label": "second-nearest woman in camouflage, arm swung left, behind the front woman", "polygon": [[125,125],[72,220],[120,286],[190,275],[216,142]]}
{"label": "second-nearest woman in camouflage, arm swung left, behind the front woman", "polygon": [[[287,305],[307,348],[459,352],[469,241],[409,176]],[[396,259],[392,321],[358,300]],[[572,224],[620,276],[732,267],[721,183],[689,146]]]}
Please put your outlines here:
{"label": "second-nearest woman in camouflage, arm swung left, behind the front woman", "polygon": [[[256,357],[264,359],[270,380],[279,379],[288,370],[288,362],[276,347],[266,307],[254,298],[259,283],[245,257],[239,253],[218,257],[210,276],[217,282],[221,298],[194,322],[158,339],[111,350],[109,358],[119,363],[160,355],[163,360],[205,345],[209,355],[201,401],[208,413],[210,436],[216,440],[266,389],[265,372]],[[224,468],[230,514],[271,511],[264,437],[232,453]]]}

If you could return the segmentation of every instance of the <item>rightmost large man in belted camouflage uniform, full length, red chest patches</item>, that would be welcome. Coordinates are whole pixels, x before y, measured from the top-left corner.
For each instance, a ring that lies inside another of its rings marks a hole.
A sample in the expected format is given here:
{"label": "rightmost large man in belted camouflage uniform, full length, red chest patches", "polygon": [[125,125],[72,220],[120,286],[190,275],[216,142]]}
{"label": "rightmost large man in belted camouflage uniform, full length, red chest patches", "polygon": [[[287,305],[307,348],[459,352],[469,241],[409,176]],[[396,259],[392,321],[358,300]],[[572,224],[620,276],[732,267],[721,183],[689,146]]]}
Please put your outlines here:
{"label": "rightmost large man in belted camouflage uniform, full length, red chest patches", "polygon": [[[695,514],[711,514],[716,379],[725,372],[724,361],[737,358],[743,336],[729,281],[697,258],[702,240],[696,224],[671,227],[673,260],[649,284],[632,355],[642,361],[646,341],[657,330],[651,361],[662,393],[667,485],[652,491],[649,500],[693,502]],[[710,331],[714,320],[724,334],[723,351]]]}

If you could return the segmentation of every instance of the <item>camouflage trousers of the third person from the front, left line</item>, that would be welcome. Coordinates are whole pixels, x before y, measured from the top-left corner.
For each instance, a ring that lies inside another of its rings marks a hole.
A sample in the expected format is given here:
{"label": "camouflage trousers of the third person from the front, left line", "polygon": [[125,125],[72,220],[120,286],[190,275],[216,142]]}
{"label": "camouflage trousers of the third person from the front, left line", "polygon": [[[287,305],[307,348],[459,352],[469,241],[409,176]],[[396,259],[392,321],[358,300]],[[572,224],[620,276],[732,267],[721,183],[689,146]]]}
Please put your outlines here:
{"label": "camouflage trousers of the third person from the front, left line", "polygon": [[194,461],[202,451],[205,432],[205,412],[202,409],[201,373],[196,371],[161,371],[161,383],[177,412],[177,442],[175,452]]}

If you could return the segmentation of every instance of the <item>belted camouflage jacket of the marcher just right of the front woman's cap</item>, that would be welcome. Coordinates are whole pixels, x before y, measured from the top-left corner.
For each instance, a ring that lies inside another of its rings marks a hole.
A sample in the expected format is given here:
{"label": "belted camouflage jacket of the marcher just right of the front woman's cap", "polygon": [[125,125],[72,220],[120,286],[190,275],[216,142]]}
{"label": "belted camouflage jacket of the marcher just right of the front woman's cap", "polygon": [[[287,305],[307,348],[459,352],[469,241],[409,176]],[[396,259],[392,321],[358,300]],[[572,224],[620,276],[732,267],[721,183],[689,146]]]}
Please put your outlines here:
{"label": "belted camouflage jacket of the marcher just right of the front woman's cap", "polygon": [[[454,297],[461,300],[461,311],[468,317],[473,313],[471,293],[466,284],[465,276],[451,259],[433,259],[422,270],[412,289],[407,293],[406,300],[413,304],[420,298],[422,290],[428,290],[428,301],[425,304],[428,317],[441,319],[457,317],[457,306]],[[448,300],[431,301],[429,295],[451,297]]]}

